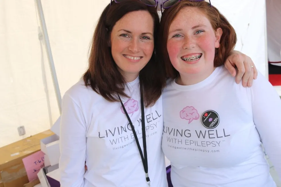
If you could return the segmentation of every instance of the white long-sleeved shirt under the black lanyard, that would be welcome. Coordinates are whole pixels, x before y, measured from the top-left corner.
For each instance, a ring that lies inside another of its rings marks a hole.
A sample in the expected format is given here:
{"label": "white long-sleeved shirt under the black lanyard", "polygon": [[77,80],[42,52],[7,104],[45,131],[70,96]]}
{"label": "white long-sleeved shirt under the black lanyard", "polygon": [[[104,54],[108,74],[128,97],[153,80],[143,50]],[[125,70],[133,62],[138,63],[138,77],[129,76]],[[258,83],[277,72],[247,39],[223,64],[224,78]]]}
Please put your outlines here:
{"label": "white long-sleeved shirt under the black lanyard", "polygon": [[[128,86],[130,90],[126,93],[131,99],[121,99],[143,151],[139,79]],[[151,187],[166,187],[161,149],[162,98],[153,107],[145,108],[145,128]],[[121,103],[106,101],[84,86],[83,81],[72,86],[63,97],[60,147],[61,187],[148,186],[141,155]]]}

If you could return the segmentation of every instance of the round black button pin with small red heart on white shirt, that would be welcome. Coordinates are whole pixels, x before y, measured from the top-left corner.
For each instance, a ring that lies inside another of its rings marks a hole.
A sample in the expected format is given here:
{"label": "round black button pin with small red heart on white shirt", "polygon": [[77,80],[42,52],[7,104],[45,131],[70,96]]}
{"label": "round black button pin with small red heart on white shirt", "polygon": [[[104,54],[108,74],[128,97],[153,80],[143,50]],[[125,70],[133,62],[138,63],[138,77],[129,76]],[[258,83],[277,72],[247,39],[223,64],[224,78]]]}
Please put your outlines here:
{"label": "round black button pin with small red heart on white shirt", "polygon": [[204,127],[213,129],[218,126],[218,123],[220,123],[220,117],[215,111],[207,110],[201,116],[201,123]]}

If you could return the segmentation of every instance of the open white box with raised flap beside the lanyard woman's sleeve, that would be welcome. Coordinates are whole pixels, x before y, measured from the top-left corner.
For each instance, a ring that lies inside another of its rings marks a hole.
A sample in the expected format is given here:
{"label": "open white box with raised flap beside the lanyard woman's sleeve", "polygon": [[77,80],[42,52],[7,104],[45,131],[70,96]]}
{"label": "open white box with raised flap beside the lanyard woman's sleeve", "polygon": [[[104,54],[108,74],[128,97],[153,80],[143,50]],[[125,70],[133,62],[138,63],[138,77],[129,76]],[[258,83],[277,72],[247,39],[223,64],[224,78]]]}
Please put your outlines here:
{"label": "open white box with raised flap beside the lanyard woman's sleeve", "polygon": [[51,131],[54,132],[55,134],[46,137],[41,140],[41,151],[45,153],[45,163],[47,165],[45,166],[54,166],[58,164],[61,153],[60,153],[60,144],[59,144],[59,133],[60,133],[60,122],[61,122],[61,117],[59,117],[54,125],[51,127]]}

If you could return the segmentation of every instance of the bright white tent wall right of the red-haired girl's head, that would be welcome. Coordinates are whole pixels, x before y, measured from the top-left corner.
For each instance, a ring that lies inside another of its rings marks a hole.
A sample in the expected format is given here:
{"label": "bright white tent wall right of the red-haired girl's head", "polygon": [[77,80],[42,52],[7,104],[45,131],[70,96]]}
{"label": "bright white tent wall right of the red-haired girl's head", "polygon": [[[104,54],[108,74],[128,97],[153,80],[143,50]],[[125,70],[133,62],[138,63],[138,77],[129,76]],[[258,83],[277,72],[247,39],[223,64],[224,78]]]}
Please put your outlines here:
{"label": "bright white tent wall right of the red-haired girl's head", "polygon": [[237,33],[235,50],[250,56],[257,69],[267,77],[265,0],[211,0],[227,17]]}

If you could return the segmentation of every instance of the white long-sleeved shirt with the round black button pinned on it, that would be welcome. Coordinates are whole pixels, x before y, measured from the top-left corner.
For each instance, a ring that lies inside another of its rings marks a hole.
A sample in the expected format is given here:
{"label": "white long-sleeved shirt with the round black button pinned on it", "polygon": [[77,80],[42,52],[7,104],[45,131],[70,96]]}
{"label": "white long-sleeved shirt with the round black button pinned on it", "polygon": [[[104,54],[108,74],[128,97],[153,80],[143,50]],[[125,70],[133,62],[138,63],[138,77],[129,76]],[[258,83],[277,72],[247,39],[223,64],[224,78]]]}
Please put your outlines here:
{"label": "white long-sleeved shirt with the round black button pinned on it", "polygon": [[223,66],[194,85],[173,80],[163,116],[162,149],[175,187],[276,186],[262,143],[281,176],[281,100],[262,74],[250,88]]}

